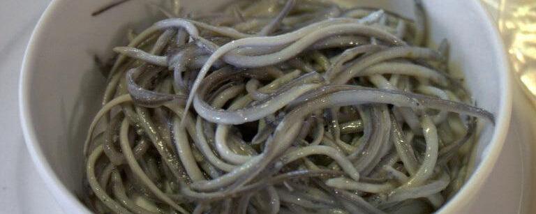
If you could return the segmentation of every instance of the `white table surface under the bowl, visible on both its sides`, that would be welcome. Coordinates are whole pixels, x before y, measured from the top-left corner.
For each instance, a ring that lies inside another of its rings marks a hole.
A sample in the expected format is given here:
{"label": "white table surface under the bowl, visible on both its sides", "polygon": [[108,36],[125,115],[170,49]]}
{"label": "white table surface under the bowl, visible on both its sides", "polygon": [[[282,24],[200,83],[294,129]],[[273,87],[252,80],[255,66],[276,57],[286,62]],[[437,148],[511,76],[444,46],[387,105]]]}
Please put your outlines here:
{"label": "white table surface under the bowl, visible on both its sides", "polygon": [[[85,0],[90,1],[90,0]],[[483,0],[486,1],[486,0]],[[487,0],[491,5],[497,0]],[[50,0],[1,0],[0,2],[0,213],[62,213],[61,208],[40,179],[24,145],[18,116],[17,88],[20,63],[31,31]],[[494,14],[493,11],[492,15]],[[519,92],[519,90],[518,90]],[[484,190],[470,208],[478,213],[528,213],[531,187],[528,181],[535,170],[530,160],[536,115],[523,95],[514,96],[516,121],[510,129],[496,169]],[[517,105],[516,105],[517,103]],[[523,113],[520,113],[523,112]],[[527,113],[528,112],[528,113]],[[518,129],[519,127],[524,128]],[[527,127],[529,127],[527,129]],[[517,142],[517,143],[514,143]],[[519,167],[519,166],[524,167]],[[536,165],[535,165],[536,166]],[[512,185],[503,181],[521,181]],[[501,192],[496,192],[499,187]],[[524,190],[524,191],[523,191]],[[521,192],[521,193],[520,193]],[[536,211],[533,209],[533,211]]]}

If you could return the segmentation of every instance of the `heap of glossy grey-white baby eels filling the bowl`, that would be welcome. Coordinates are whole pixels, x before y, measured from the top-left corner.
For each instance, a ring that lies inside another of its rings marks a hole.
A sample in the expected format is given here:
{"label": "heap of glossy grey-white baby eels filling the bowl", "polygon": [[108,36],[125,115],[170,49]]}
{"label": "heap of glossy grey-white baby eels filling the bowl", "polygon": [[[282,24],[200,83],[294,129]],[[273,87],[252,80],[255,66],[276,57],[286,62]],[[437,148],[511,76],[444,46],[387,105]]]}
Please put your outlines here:
{"label": "heap of glossy grey-white baby eels filling the bowl", "polygon": [[[140,33],[89,128],[98,213],[430,213],[463,185],[477,119],[448,43],[415,20],[235,1]],[[192,105],[193,104],[193,105]]]}

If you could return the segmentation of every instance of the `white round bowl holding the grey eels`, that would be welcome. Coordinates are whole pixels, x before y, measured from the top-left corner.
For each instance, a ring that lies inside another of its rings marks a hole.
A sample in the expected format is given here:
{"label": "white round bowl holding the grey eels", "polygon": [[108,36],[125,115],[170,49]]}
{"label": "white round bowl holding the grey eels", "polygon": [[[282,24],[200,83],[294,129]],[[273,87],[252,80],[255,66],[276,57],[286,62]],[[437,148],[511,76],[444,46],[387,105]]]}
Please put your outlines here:
{"label": "white round bowl holding the grey eels", "polygon": [[[185,1],[191,10],[225,3]],[[335,1],[352,4],[349,0]],[[91,17],[91,12],[109,2],[52,1],[31,37],[22,66],[20,112],[27,147],[40,175],[67,213],[90,213],[77,199],[84,174],[82,144],[101,106],[105,84],[92,56],[110,56],[114,45],[124,44],[126,26],[146,27],[157,14],[138,1],[130,1]],[[357,2],[412,16],[410,0]],[[505,141],[512,105],[509,70],[498,31],[478,1],[427,0],[424,5],[431,43],[449,40],[451,63],[465,72],[479,107],[497,118],[494,127],[487,125],[482,131],[472,176],[440,209],[440,213],[457,213],[475,198]]]}

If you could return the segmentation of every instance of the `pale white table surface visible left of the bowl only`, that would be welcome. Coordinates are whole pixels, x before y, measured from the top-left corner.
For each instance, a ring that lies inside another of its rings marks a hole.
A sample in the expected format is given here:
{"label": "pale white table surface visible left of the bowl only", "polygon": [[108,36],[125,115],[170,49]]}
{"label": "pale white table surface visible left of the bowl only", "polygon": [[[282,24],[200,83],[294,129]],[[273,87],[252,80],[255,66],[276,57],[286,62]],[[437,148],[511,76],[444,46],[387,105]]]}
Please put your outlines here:
{"label": "pale white table surface visible left of the bowl only", "polygon": [[[61,213],[24,145],[18,113],[20,63],[50,0],[0,3],[0,213]],[[20,201],[27,201],[20,206]]]}

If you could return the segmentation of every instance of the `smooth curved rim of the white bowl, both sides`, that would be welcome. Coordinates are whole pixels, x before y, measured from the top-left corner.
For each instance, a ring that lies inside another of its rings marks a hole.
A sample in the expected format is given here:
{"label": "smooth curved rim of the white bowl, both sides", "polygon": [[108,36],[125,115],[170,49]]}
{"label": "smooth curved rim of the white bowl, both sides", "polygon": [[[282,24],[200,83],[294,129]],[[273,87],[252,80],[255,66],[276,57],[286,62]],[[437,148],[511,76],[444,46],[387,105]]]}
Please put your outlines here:
{"label": "smooth curved rim of the white bowl, both sides", "polygon": [[[77,211],[78,213],[91,213],[89,208],[85,206],[82,201],[77,199],[75,194],[66,188],[66,185],[62,183],[57,174],[54,173],[54,170],[50,166],[50,163],[45,158],[43,150],[41,149],[39,140],[36,135],[36,126],[33,119],[31,118],[31,109],[30,109],[30,97],[31,91],[29,88],[29,81],[34,75],[32,71],[32,64],[36,58],[36,45],[40,43],[40,38],[43,37],[47,24],[52,21],[50,18],[54,11],[61,4],[61,0],[52,0],[50,4],[45,9],[43,15],[41,15],[36,28],[31,33],[31,38],[27,45],[27,49],[24,52],[24,58],[22,60],[22,67],[20,72],[19,79],[19,112],[20,112],[20,121],[22,126],[22,133],[24,135],[24,142],[27,146],[27,149],[30,153],[31,160],[34,162],[36,169],[45,181],[47,188],[50,190],[54,199],[57,201],[59,206],[64,210],[69,212]],[[500,102],[498,109],[498,121],[493,130],[493,137],[491,143],[486,146],[486,156],[482,158],[482,162],[474,169],[472,175],[463,184],[462,188],[456,193],[452,199],[447,201],[437,213],[455,213],[459,207],[465,207],[471,201],[477,192],[482,188],[484,181],[491,173],[491,169],[498,160],[500,151],[502,151],[502,146],[505,144],[505,139],[507,136],[510,117],[512,113],[512,77],[509,68],[509,61],[507,58],[507,53],[505,51],[505,46],[500,37],[500,33],[497,29],[497,26],[493,24],[493,18],[484,8],[482,3],[477,0],[472,0],[472,7],[476,9],[475,12],[479,17],[484,18],[484,27],[486,30],[491,33],[492,40],[495,40],[496,43],[493,43],[493,52],[498,54],[498,63],[500,68],[499,77],[500,77],[500,86],[502,86],[502,91],[500,96],[503,98]]]}

